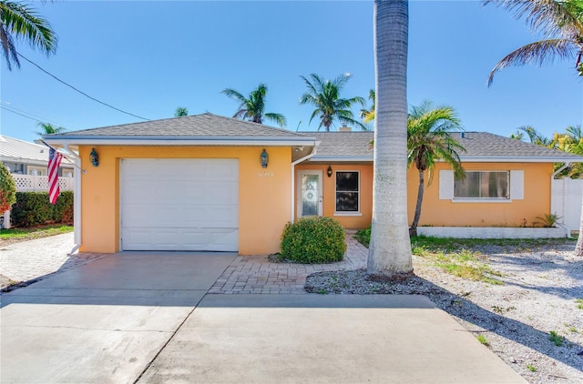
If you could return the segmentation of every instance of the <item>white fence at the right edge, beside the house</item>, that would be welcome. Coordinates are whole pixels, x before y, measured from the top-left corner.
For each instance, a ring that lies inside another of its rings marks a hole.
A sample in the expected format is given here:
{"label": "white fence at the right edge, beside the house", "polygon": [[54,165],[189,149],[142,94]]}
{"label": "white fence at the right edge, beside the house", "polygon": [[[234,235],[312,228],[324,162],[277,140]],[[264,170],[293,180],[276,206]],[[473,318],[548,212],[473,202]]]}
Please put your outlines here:
{"label": "white fence at the right edge, beside the house", "polygon": [[578,230],[583,201],[583,179],[553,180],[550,193],[550,211],[561,217],[558,221],[571,230]]}

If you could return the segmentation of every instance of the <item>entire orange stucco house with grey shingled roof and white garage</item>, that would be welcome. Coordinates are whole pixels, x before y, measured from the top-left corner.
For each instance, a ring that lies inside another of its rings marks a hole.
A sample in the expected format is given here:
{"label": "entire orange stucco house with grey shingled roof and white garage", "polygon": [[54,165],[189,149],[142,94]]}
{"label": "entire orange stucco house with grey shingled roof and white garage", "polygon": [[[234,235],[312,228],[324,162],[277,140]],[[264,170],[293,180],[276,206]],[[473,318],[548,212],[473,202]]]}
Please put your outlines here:
{"label": "entire orange stucco house with grey shingled roof and white garage", "polygon": [[[442,165],[420,226],[513,226],[550,211],[556,150],[487,133],[457,134],[464,182]],[[372,132],[296,133],[203,114],[44,136],[76,161],[82,252],[279,249],[298,217],[347,228],[372,218]],[[409,217],[417,191],[409,171]]]}

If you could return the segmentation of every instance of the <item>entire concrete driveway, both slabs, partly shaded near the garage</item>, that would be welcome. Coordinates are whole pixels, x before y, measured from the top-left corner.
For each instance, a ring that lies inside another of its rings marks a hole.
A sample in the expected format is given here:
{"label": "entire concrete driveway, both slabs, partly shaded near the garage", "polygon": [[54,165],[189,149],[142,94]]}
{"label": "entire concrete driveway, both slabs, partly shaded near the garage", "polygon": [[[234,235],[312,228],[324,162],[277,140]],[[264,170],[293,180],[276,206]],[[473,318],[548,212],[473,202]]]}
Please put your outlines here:
{"label": "entire concrete driveway, both slabs, partly shaded near the garage", "polygon": [[208,294],[235,257],[125,252],[3,294],[0,380],[525,382],[424,297]]}

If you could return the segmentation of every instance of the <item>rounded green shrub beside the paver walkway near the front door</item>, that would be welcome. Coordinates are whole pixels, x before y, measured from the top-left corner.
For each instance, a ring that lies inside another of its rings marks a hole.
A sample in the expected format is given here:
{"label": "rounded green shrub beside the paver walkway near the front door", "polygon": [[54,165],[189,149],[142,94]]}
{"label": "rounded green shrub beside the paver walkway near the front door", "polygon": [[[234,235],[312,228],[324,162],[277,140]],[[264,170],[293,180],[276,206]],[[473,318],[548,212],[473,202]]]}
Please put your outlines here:
{"label": "rounded green shrub beside the paver walkway near the front door", "polygon": [[344,228],[331,217],[302,217],[281,234],[281,256],[304,264],[341,261],[346,252]]}

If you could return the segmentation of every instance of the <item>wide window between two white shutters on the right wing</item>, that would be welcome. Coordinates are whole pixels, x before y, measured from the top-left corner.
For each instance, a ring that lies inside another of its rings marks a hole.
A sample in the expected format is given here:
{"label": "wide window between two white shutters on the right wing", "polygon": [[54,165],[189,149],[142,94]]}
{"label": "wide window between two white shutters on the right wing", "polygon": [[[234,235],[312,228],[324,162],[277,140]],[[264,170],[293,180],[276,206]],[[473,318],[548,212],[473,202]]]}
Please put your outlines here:
{"label": "wide window between two white shutters on the right wing", "polygon": [[465,178],[455,178],[455,198],[510,198],[510,172],[465,171]]}

